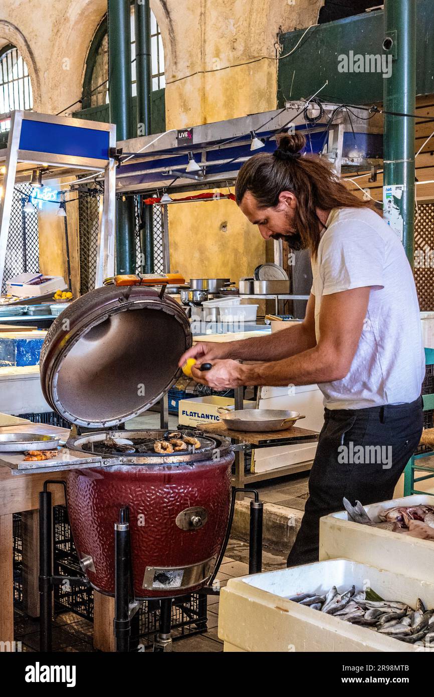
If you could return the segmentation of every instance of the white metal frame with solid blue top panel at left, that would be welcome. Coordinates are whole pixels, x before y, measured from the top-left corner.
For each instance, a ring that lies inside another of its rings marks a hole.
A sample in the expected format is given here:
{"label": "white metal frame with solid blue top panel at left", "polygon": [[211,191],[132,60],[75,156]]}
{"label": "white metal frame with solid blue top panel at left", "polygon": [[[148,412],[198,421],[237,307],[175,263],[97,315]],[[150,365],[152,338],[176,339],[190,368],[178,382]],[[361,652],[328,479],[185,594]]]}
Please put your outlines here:
{"label": "white metal frame with solid blue top panel at left", "polygon": [[[90,138],[89,131],[95,132],[95,136],[98,132],[107,133],[107,138],[100,139],[99,150],[96,137]],[[49,152],[52,146],[56,152]],[[114,275],[116,161],[110,157],[110,148],[116,148],[114,125],[35,112],[12,113],[4,158],[6,172],[3,178],[3,197],[0,199],[0,287],[6,261],[13,189],[17,174],[20,177],[22,163],[24,166],[30,165],[27,169],[33,169],[33,165],[36,168],[48,167],[47,176],[51,179],[54,168],[57,170],[55,176],[59,177],[77,174],[77,170],[101,171],[104,174],[96,287],[102,286],[105,277]]]}

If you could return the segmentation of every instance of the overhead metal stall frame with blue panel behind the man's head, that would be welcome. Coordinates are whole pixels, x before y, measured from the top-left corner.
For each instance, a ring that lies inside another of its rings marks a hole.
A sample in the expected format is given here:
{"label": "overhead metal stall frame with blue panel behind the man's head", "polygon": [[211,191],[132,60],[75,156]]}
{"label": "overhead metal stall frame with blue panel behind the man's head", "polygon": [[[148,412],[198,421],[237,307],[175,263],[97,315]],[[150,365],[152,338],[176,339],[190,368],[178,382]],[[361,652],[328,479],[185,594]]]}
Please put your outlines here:
{"label": "overhead metal stall frame with blue panel behind the man's head", "polygon": [[[313,153],[325,148],[325,156],[334,164],[336,174],[341,174],[341,167],[356,169],[378,163],[369,152],[375,151],[377,144],[370,148],[369,137],[382,134],[379,114],[366,121],[366,112],[355,108],[352,116],[340,112],[332,118],[336,106],[325,104],[323,117],[313,123],[304,114],[308,107],[309,102],[287,102],[284,109],[194,126],[189,129],[191,138],[187,144],[178,144],[176,130],[119,141],[118,148],[131,157],[118,170],[116,192],[151,194],[166,187],[171,192],[187,192],[233,185],[240,167],[253,154],[251,131],[265,139],[260,152],[272,152],[276,148],[276,132],[288,130],[289,125],[307,134]],[[189,151],[201,165],[200,172],[185,171]]]}

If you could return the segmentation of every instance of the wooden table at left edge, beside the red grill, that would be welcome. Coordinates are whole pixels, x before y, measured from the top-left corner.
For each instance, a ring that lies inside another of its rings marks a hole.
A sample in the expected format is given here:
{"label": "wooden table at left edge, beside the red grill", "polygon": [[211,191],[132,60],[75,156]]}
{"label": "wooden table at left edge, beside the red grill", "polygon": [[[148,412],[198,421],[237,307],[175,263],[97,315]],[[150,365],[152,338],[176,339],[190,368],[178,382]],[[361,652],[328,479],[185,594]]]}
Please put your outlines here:
{"label": "wooden table at left edge, beside the red grill", "polygon": [[[14,423],[15,417],[0,415],[0,422]],[[47,424],[21,424],[0,427],[0,434],[21,431],[57,435],[64,441],[70,431]],[[0,453],[1,460],[1,453]],[[13,475],[0,461],[0,641],[13,642],[13,514],[22,514],[22,573],[24,612],[39,616],[39,492],[46,480],[63,481],[68,473],[62,470]],[[63,487],[50,486],[54,506],[64,505]],[[103,651],[114,651],[114,599],[93,592],[93,643]],[[7,646],[7,644],[6,644]]]}

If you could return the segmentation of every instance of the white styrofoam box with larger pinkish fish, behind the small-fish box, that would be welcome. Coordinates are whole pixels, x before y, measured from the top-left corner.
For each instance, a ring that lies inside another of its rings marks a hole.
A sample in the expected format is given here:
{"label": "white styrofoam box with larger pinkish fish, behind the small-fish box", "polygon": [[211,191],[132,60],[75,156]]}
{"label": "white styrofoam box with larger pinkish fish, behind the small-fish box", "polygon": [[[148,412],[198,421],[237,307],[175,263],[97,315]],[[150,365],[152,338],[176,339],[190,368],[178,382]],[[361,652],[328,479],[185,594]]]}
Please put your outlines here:
{"label": "white styrofoam box with larger pinkish fish, behind the small-fish box", "polygon": [[[362,502],[363,503],[363,502]],[[378,523],[378,513],[385,508],[434,505],[428,494],[406,496],[365,506],[369,517]],[[353,523],[346,511],[320,519],[320,559],[348,557],[362,564],[402,573],[403,567],[415,579],[434,581],[434,541],[418,539],[391,530]]]}

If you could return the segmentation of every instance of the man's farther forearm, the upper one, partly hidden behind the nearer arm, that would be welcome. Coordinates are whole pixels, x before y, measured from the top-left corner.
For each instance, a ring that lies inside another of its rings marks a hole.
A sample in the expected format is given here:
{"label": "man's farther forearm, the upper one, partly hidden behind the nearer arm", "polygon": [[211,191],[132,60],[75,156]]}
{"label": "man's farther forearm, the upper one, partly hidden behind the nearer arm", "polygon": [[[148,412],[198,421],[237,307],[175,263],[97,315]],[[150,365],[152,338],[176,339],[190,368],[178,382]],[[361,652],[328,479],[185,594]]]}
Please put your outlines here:
{"label": "man's farther forearm, the upper one, partly hidden behind the nearer arm", "polygon": [[315,337],[300,323],[268,337],[242,339],[222,344],[221,358],[232,360],[279,361],[316,345]]}

